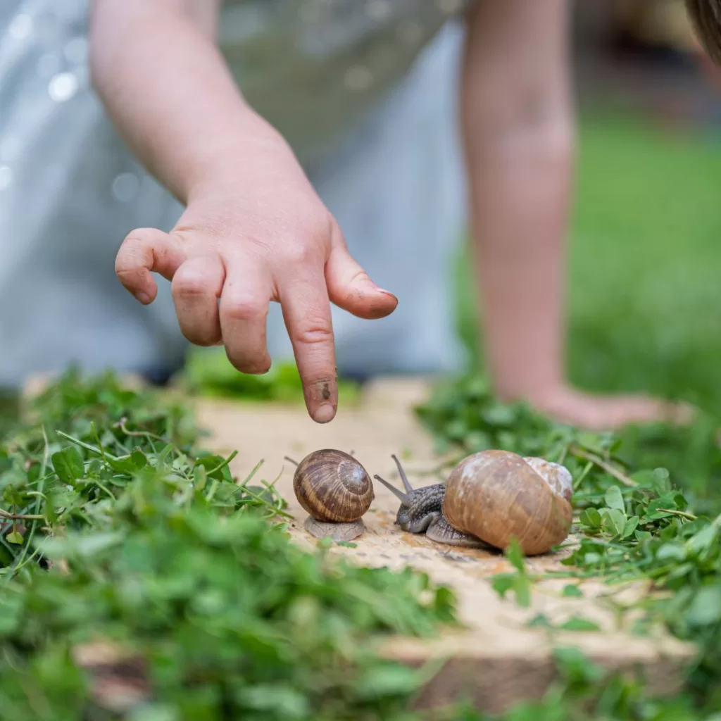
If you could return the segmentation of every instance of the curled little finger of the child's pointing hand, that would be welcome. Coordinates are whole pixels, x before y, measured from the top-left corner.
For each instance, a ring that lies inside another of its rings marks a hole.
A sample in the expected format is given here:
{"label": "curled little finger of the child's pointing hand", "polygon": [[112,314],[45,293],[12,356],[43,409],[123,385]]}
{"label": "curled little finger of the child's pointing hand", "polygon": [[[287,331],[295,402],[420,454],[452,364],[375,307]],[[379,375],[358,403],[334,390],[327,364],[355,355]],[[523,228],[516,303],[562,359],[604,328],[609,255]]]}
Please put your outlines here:
{"label": "curled little finger of the child's pointing hand", "polygon": [[139,228],[129,234],[115,258],[115,275],[142,304],[155,300],[158,286],[151,273],[172,280],[185,260],[177,242],[154,228]]}

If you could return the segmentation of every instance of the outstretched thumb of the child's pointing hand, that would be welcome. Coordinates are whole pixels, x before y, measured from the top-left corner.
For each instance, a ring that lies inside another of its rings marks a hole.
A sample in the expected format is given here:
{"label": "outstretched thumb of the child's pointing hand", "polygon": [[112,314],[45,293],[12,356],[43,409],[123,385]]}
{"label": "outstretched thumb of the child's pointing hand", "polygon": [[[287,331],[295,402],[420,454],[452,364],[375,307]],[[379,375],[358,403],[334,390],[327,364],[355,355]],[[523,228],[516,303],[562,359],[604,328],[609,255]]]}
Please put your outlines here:
{"label": "outstretched thumb of the child's pointing hand", "polygon": [[385,318],[398,305],[398,298],[376,286],[341,244],[330,253],[325,280],[330,300],[359,318]]}

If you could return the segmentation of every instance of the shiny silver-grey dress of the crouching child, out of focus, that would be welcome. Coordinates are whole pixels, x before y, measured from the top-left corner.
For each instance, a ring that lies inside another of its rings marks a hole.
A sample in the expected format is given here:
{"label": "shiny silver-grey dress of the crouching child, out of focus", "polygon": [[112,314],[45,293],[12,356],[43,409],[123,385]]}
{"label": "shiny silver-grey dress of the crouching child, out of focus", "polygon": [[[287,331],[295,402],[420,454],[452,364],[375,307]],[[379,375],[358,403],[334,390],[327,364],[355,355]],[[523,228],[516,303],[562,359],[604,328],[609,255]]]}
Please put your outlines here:
{"label": "shiny silver-grey dress of the crouching child, out of focus", "polygon": [[[71,362],[168,371],[187,348],[169,283],[143,307],[123,237],[182,208],[133,159],[89,85],[88,0],[0,2],[0,385]],[[456,137],[459,0],[226,0],[220,44],[293,146],[356,260],[399,298],[333,308],[340,371],[459,367],[451,262],[465,217]],[[268,345],[292,358],[271,305]]]}

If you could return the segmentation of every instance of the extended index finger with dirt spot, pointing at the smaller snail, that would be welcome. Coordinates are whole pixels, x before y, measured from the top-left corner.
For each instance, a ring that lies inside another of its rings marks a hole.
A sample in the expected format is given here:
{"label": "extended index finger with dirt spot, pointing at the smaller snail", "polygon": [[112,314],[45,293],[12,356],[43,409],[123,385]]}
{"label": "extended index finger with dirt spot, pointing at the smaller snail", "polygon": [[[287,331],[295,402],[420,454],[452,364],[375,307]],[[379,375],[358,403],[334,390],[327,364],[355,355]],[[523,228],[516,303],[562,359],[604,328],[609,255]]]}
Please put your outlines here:
{"label": "extended index finger with dirt spot, pointing at the smaller snail", "polygon": [[303,382],[306,408],[316,423],[328,423],[338,407],[335,340],[322,268],[280,288],[280,306]]}

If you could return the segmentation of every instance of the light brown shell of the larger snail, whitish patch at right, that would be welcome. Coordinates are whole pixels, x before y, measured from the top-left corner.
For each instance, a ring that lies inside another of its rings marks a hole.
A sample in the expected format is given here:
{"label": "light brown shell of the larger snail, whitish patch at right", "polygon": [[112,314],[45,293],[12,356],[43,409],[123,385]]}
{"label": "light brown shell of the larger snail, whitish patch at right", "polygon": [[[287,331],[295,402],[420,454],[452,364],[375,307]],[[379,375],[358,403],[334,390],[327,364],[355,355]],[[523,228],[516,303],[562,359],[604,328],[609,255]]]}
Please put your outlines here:
{"label": "light brown shell of the larger snail, whitish patch at right", "polygon": [[443,515],[496,548],[507,548],[515,536],[524,554],[547,553],[567,538],[573,513],[570,474],[555,465],[509,451],[472,454],[448,477]]}

